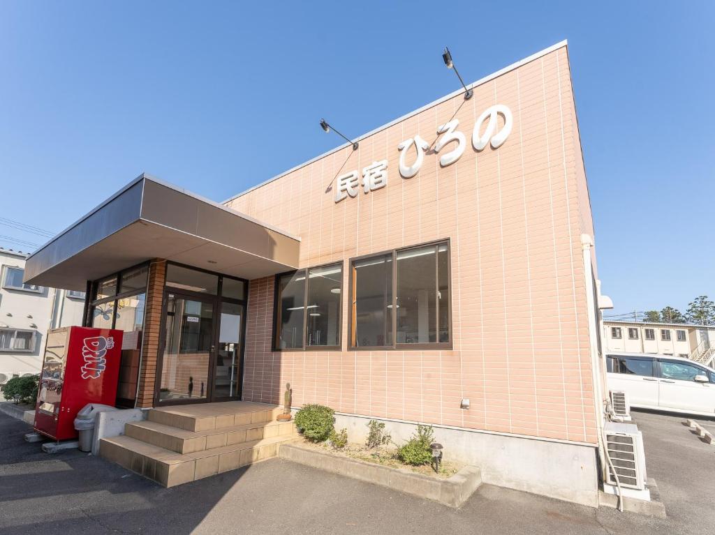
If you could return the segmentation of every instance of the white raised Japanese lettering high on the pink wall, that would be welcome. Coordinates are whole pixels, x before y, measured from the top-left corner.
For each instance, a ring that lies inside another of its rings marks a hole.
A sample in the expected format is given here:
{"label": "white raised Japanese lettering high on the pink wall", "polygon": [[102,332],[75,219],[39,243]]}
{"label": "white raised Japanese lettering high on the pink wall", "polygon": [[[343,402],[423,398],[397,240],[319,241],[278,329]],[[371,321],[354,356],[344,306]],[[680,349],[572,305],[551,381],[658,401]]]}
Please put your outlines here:
{"label": "white raised Japanese lettering high on the pink wall", "polygon": [[[504,125],[497,132],[498,116],[504,118]],[[486,129],[482,135],[479,135],[482,125],[488,121]],[[498,149],[506,138],[511,133],[513,118],[511,110],[503,104],[496,104],[486,109],[481,114],[474,124],[472,132],[472,146],[475,151],[483,151],[490,144],[493,149]],[[437,129],[437,134],[440,134],[439,139],[435,143],[434,151],[440,154],[440,166],[447,167],[458,161],[466,149],[467,141],[463,132],[458,130],[459,120],[453,119],[446,124],[443,124]],[[448,144],[455,144],[452,150],[443,152]],[[414,147],[415,156],[411,164],[408,164],[408,154],[412,153]],[[425,160],[425,151],[430,148],[430,144],[422,139],[419,135],[405,139],[398,145],[400,151],[400,176],[403,179],[411,179],[418,174]],[[358,169],[342,174],[337,177],[337,186],[335,188],[335,202],[340,202],[347,196],[356,197],[363,189],[365,194],[376,189],[384,188],[388,185],[388,161],[373,161],[372,164],[363,167],[362,174],[358,174]]]}

